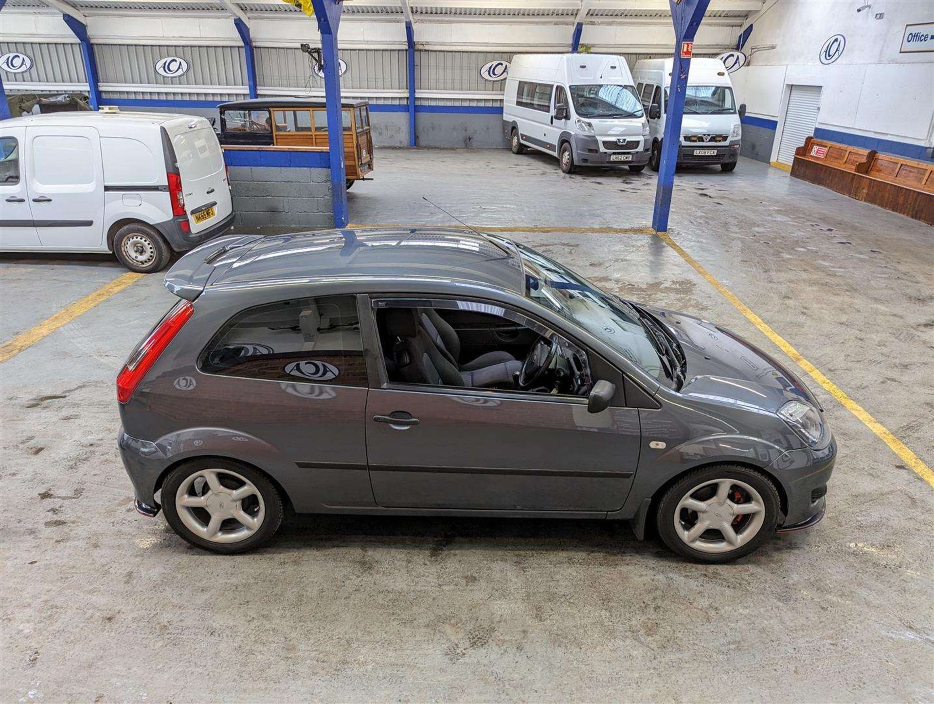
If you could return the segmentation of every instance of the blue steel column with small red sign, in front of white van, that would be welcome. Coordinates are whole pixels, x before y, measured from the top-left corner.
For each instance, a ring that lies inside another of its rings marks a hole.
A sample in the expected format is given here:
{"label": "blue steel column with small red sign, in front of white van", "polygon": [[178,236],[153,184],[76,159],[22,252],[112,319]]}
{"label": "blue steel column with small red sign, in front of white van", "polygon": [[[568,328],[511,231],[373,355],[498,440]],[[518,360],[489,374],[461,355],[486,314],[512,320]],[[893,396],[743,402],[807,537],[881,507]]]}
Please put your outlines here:
{"label": "blue steel column with small red sign, in front of white van", "polygon": [[694,41],[710,0],[681,0],[680,2],[668,0],[668,4],[672,7],[672,22],[674,22],[674,61],[672,83],[668,91],[668,100],[665,101],[665,134],[662,136],[655,210],[652,213],[652,228],[656,232],[668,231],[668,212],[672,208],[672,190],[674,189],[674,168],[678,162],[678,148],[681,145],[681,122],[685,114],[687,72],[691,66],[690,59],[681,58],[681,47],[683,42]]}

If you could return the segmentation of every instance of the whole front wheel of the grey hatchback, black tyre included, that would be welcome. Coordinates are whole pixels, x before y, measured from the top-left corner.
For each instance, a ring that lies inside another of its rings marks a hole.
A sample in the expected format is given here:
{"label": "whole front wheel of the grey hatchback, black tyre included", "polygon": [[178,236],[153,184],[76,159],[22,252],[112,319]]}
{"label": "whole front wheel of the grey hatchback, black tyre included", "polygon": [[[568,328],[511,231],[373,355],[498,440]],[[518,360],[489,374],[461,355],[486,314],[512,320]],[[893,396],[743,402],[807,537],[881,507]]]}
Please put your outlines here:
{"label": "whole front wheel of the grey hatchback, black tyre included", "polygon": [[775,533],[781,501],[775,485],[754,469],[715,465],[688,472],[658,502],[658,536],[697,562],[731,562]]}

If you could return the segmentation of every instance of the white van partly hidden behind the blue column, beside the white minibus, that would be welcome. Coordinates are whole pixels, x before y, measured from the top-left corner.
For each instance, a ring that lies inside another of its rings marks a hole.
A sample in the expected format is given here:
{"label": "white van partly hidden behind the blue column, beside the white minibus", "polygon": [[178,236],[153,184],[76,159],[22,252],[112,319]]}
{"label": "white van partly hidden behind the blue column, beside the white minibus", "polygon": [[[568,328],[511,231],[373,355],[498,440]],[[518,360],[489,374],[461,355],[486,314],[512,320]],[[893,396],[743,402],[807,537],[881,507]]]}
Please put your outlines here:
{"label": "white van partly hidden behind the blue column, beside the white minibus", "polygon": [[[652,132],[649,166],[658,171],[661,139],[665,134],[668,89],[673,59],[644,59],[632,71]],[[736,168],[740,156],[746,107],[737,107],[733,84],[719,59],[691,59],[687,74],[685,116],[681,123],[678,165],[719,164],[724,171]]]}

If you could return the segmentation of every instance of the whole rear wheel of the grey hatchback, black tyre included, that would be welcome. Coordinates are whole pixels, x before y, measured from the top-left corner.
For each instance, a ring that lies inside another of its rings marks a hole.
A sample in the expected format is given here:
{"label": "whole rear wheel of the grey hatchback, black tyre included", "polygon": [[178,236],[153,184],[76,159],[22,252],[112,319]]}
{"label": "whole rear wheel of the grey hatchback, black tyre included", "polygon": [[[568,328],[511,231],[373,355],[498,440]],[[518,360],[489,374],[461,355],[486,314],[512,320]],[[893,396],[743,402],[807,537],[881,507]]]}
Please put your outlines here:
{"label": "whole rear wheel of the grey hatchback, black tyre included", "polygon": [[262,472],[228,459],[191,460],[163,482],[163,511],[172,529],[212,553],[244,553],[272,538],[282,523],[282,497]]}

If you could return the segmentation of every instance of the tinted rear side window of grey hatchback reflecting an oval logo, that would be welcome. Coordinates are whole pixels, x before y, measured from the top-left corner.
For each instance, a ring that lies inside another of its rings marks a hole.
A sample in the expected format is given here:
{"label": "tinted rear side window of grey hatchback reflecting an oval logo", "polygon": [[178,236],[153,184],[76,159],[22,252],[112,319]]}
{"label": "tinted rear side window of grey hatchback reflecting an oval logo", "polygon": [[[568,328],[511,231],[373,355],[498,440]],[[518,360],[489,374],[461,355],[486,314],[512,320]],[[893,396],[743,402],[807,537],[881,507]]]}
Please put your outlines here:
{"label": "tinted rear side window of grey hatchback reflecting an oval logo", "polygon": [[246,309],[219,329],[200,366],[229,377],[366,386],[357,301],[331,295]]}

